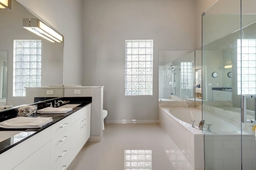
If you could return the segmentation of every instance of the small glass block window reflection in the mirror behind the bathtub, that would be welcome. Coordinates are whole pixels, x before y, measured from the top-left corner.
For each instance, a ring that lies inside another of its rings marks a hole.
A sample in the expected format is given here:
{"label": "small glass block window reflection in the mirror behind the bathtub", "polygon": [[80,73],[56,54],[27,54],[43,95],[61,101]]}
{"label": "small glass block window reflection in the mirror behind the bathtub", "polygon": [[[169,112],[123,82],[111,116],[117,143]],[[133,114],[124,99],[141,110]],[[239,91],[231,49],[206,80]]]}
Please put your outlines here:
{"label": "small glass block window reflection in the mirror behind the bathtub", "polygon": [[193,63],[192,62],[180,63],[180,84],[181,84],[181,89],[193,88]]}

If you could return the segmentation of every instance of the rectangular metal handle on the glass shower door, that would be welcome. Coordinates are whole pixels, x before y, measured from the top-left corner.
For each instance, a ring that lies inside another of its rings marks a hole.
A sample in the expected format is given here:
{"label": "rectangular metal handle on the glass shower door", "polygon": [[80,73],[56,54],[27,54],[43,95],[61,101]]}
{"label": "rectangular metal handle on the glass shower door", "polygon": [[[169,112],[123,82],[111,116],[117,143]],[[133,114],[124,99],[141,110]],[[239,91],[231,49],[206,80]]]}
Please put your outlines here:
{"label": "rectangular metal handle on the glass shower door", "polygon": [[[254,98],[254,120],[246,119],[246,99]],[[243,123],[256,123],[256,96],[255,95],[242,95],[242,122]]]}

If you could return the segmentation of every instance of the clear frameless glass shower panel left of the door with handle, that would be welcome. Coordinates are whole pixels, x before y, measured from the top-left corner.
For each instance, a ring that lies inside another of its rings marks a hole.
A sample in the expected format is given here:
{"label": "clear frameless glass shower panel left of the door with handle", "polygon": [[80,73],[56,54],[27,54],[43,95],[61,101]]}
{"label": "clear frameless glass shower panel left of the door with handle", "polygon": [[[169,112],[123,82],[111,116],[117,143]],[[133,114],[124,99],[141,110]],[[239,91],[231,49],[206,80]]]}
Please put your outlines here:
{"label": "clear frameless glass shower panel left of the door with handle", "polygon": [[[232,8],[230,6],[232,4]],[[205,170],[241,170],[238,95],[240,0],[218,0],[202,16],[202,132]]]}

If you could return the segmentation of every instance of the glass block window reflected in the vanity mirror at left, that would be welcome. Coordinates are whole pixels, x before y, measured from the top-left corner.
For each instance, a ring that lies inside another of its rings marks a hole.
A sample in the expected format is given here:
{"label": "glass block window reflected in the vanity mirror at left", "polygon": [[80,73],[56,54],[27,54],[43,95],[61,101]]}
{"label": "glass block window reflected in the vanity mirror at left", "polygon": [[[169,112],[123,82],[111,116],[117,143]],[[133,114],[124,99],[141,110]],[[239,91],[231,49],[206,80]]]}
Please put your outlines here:
{"label": "glass block window reflected in the vanity mirror at left", "polygon": [[41,40],[14,40],[13,96],[26,96],[25,87],[41,86]]}

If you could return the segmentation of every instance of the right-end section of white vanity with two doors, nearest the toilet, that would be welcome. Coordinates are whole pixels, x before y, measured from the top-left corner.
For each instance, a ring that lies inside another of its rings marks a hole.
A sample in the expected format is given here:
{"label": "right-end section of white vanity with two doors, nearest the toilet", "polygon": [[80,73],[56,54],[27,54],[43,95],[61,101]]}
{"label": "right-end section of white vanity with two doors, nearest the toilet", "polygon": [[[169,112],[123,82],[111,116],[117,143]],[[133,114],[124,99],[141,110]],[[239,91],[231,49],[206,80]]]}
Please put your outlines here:
{"label": "right-end section of white vanity with two doors, nearest the toilet", "polygon": [[71,155],[73,160],[90,137],[91,105],[71,115]]}

